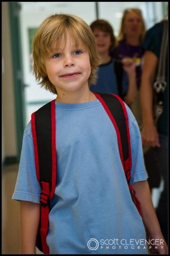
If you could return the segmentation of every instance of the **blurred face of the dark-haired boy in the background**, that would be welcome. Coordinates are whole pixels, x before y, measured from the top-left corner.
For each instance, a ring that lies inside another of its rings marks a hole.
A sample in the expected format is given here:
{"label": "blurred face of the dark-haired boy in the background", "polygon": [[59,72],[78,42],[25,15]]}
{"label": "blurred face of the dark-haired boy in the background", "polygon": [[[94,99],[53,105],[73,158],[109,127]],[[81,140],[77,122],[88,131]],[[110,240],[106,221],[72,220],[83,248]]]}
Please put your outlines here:
{"label": "blurred face of the dark-haired boy in the background", "polygon": [[94,31],[95,41],[97,45],[97,51],[99,54],[104,54],[109,52],[109,47],[111,46],[111,35],[105,31],[95,28]]}

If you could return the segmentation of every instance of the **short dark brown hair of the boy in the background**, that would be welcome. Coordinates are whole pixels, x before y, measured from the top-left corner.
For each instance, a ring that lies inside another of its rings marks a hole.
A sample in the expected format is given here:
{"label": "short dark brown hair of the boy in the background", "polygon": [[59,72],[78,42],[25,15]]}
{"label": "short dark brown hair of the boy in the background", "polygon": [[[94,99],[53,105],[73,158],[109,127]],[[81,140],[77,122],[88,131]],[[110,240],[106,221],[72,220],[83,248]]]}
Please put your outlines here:
{"label": "short dark brown hair of the boy in the background", "polygon": [[97,19],[93,23],[91,23],[90,28],[93,33],[95,29],[109,33],[109,35],[111,36],[111,46],[109,51],[111,51],[116,46],[116,36],[114,36],[114,29],[112,28],[111,24],[109,24],[109,22],[107,22],[106,20]]}

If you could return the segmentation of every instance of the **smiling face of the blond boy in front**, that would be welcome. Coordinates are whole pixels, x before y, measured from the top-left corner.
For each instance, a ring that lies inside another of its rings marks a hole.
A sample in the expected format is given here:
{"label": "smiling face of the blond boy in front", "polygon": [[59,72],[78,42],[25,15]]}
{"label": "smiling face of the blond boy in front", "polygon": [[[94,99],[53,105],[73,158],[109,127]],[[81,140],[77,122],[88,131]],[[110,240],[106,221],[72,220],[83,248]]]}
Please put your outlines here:
{"label": "smiling face of the blond boy in front", "polygon": [[89,52],[81,42],[76,47],[69,34],[65,42],[61,40],[59,49],[45,58],[45,68],[50,82],[56,86],[58,95],[80,93],[84,88],[89,88],[88,79],[91,74]]}

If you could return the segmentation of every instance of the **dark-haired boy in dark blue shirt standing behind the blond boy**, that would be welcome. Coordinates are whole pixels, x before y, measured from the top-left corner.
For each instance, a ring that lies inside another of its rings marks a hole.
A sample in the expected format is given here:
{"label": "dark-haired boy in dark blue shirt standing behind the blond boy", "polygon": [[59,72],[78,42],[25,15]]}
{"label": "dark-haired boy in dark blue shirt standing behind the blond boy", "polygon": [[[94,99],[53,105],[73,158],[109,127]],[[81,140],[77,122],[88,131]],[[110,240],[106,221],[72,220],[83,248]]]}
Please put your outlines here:
{"label": "dark-haired boy in dark blue shirt standing behind the blond boy", "polygon": [[107,20],[97,19],[90,25],[95,36],[97,52],[100,56],[98,79],[90,87],[91,92],[114,93],[130,105],[137,93],[135,63],[132,58],[113,60],[110,56],[116,47],[116,37]]}

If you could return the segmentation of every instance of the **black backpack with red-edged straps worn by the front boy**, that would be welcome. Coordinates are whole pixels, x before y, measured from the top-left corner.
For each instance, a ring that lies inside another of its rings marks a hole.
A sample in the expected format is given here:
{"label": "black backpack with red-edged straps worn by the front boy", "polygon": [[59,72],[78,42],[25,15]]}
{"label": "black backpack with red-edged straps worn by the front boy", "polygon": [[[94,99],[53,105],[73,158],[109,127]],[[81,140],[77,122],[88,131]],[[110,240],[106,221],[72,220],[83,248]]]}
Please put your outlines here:
{"label": "black backpack with red-edged straps worn by the front boy", "polygon": [[[121,163],[125,171],[128,187],[132,195],[132,200],[137,206],[139,214],[141,214],[139,201],[135,197],[135,191],[129,184],[132,159],[128,116],[125,104],[120,97],[114,94],[94,94],[100,100],[102,106],[104,106],[116,129]],[[40,224],[36,237],[36,247],[43,253],[49,254],[49,246],[47,246],[46,238],[49,228],[50,200],[54,196],[57,180],[55,100],[45,104],[31,115],[31,128],[35,150],[36,177],[42,188],[40,195]]]}

